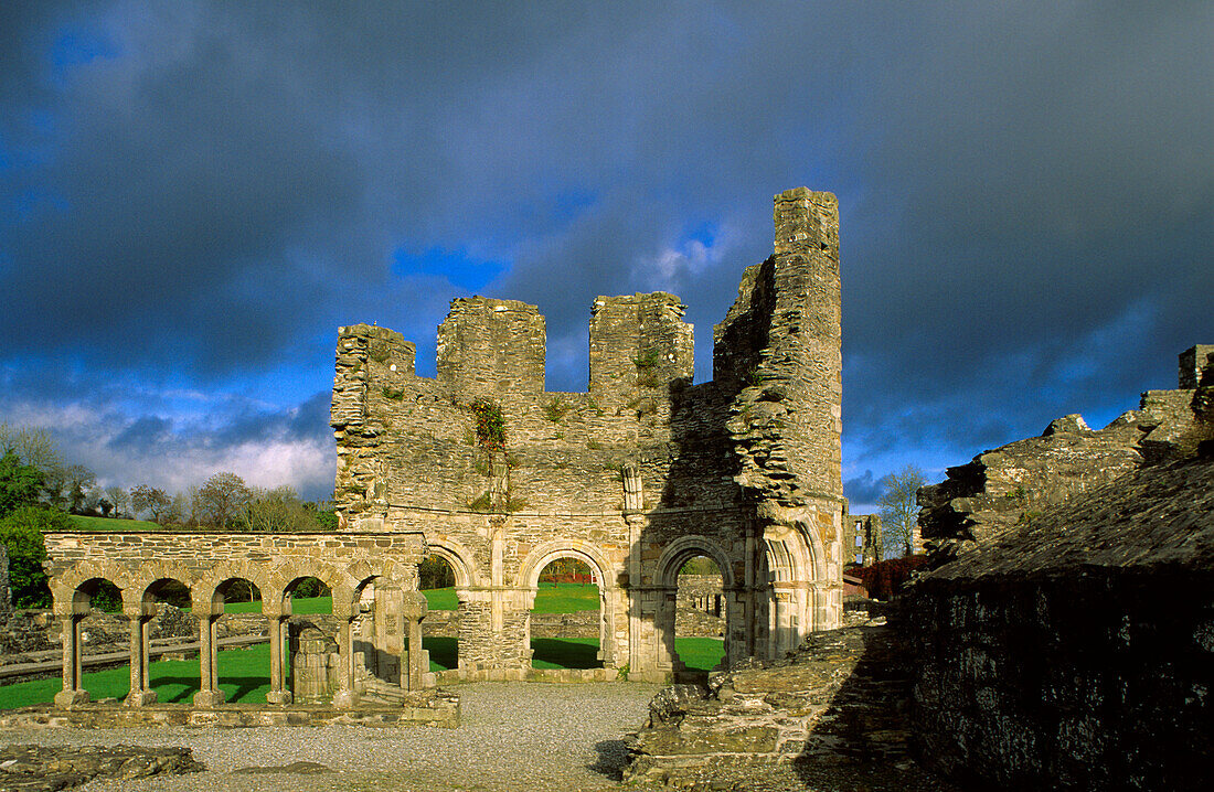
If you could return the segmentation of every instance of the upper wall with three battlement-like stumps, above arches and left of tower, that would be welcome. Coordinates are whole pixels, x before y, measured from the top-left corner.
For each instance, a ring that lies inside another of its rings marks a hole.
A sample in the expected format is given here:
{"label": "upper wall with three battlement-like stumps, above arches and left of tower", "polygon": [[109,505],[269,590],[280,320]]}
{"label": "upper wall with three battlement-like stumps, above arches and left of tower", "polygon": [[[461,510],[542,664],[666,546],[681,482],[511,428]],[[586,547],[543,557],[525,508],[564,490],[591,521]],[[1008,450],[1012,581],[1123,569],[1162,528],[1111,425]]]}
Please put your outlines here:
{"label": "upper wall with three battlement-like stumps, above arches and left of tower", "polygon": [[649,508],[733,503],[736,485],[710,469],[721,440],[715,451],[700,448],[708,435],[724,437],[726,405],[710,388],[688,387],[682,310],[670,295],[599,297],[589,393],[544,391],[544,321],[533,306],[455,301],[439,327],[437,378],[414,375],[413,346],[398,334],[342,329],[331,414],[339,508],[471,511],[493,475],[467,409],[478,398],[501,406],[517,511],[619,512],[629,462]]}

